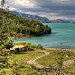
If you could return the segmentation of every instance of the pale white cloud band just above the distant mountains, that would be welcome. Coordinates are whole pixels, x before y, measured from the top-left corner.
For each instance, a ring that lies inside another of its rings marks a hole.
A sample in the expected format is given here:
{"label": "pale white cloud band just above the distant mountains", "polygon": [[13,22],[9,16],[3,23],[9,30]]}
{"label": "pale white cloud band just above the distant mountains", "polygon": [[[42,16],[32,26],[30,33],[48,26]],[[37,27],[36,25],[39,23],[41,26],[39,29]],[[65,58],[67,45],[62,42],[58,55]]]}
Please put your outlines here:
{"label": "pale white cloud band just above the distant mountains", "polygon": [[47,17],[50,20],[56,20],[56,19],[71,19],[71,20],[75,20],[74,17],[70,17],[70,16],[63,16],[60,15],[58,13],[48,13],[48,12],[27,12],[27,14],[32,14],[32,15],[39,15],[41,17]]}

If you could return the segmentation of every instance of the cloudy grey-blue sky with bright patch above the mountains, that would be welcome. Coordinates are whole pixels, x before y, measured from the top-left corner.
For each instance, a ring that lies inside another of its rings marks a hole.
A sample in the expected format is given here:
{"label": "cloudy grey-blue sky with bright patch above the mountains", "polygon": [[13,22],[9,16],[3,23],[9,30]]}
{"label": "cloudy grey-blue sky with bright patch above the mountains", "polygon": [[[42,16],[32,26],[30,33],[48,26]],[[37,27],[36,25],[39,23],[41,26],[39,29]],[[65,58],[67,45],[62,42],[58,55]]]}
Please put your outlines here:
{"label": "cloudy grey-blue sky with bright patch above the mountains", "polygon": [[9,5],[10,10],[39,15],[50,20],[75,20],[75,0],[6,0],[5,5]]}

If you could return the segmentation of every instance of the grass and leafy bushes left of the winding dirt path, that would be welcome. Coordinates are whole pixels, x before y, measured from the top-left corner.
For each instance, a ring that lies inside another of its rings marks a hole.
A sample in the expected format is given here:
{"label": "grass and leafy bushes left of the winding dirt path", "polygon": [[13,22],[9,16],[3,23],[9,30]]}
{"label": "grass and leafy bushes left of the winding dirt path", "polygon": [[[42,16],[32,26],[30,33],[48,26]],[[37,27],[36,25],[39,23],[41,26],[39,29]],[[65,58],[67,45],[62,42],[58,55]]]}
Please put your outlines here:
{"label": "grass and leafy bushes left of the winding dirt path", "polygon": [[11,54],[10,50],[0,51],[0,75],[32,75],[37,74],[26,62],[32,58],[42,55],[39,51],[17,52]]}

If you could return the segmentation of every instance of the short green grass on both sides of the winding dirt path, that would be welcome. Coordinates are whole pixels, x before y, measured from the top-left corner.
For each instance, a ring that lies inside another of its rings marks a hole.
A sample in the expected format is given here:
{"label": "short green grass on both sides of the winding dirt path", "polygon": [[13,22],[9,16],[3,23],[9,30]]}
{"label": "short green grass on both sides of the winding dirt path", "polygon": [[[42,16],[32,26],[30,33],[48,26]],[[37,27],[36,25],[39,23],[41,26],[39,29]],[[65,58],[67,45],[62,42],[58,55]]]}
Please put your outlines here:
{"label": "short green grass on both sides of the winding dirt path", "polygon": [[[55,60],[55,58],[60,57],[61,55],[63,56],[62,51],[59,50],[46,50],[48,51],[50,54],[42,57],[40,59],[37,60],[37,62],[41,65],[45,65],[45,66],[56,66],[57,65],[57,61]],[[27,51],[27,52],[18,52],[17,54],[11,54],[9,57],[9,63],[10,65],[13,64],[14,61],[17,61],[18,66],[22,66],[24,65],[24,68],[18,68],[19,69],[19,73],[20,75],[38,75],[36,70],[31,69],[31,66],[28,65],[26,62],[30,59],[33,59],[37,56],[40,56],[44,54],[43,52],[40,52],[40,49],[35,49],[35,51]],[[65,57],[66,54],[69,54],[69,57]],[[72,57],[75,57],[75,53],[74,52],[65,52],[65,55],[63,56],[63,61],[69,60]],[[10,69],[4,69],[7,73],[7,75],[11,75],[12,74],[12,68]],[[75,72],[75,66],[69,66],[67,67],[67,71],[68,72]],[[51,74],[53,75],[53,74]]]}

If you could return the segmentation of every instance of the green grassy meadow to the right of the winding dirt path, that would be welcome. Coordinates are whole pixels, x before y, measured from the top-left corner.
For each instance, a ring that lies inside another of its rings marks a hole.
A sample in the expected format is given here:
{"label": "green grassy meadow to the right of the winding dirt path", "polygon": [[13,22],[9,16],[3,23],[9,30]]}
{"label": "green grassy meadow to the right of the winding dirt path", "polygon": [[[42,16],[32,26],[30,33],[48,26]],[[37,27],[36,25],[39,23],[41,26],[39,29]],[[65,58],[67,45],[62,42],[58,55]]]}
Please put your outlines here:
{"label": "green grassy meadow to the right of the winding dirt path", "polygon": [[[58,62],[60,62],[60,57],[62,57],[62,63],[70,60],[72,58],[75,58],[75,52],[71,51],[60,51],[60,50],[47,50],[50,54],[47,56],[44,56],[37,60],[37,62],[41,65],[45,66],[57,66]],[[67,63],[68,64],[68,63]],[[75,65],[67,66],[68,72],[75,72]]]}

